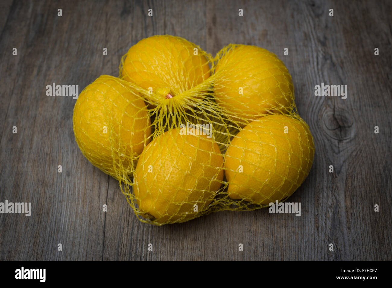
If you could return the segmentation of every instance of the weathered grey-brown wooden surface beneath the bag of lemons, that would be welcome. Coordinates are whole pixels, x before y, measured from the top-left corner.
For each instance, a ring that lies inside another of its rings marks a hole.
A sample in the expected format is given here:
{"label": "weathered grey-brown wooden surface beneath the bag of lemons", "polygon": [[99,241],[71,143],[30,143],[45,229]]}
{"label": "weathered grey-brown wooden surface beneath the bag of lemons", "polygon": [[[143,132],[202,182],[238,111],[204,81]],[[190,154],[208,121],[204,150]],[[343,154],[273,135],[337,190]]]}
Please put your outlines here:
{"label": "weathered grey-brown wooden surface beneath the bag of lemons", "polygon": [[[0,214],[0,260],[392,259],[390,1],[0,5],[0,202],[32,203],[30,217]],[[154,34],[182,36],[213,55],[229,43],[258,45],[284,61],[316,144],[310,175],[289,199],[302,203],[301,217],[261,209],[144,224],[118,182],[83,157],[72,129],[76,100],[49,97],[46,85],[80,92],[101,74],[118,76],[121,56]],[[321,82],[347,85],[347,99],[314,96]]]}

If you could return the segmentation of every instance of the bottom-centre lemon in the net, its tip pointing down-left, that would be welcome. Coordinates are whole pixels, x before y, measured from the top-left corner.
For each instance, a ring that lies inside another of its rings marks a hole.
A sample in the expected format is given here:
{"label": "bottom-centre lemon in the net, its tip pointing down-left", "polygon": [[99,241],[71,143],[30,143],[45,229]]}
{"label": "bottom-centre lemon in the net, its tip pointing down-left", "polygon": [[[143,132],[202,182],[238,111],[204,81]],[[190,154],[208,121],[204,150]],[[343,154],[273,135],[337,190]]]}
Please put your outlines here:
{"label": "bottom-centre lemon in the net, its tip pointing down-left", "polygon": [[181,134],[177,128],[156,137],[136,166],[133,188],[140,212],[158,224],[195,218],[222,184],[218,145],[206,135]]}

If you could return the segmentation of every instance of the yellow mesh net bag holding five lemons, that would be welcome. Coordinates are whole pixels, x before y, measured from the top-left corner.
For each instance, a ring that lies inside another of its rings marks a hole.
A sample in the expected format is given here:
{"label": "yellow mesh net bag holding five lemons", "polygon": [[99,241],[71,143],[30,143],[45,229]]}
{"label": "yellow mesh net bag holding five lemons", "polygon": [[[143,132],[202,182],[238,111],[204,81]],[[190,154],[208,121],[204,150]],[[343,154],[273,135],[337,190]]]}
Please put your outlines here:
{"label": "yellow mesh net bag holding five lemons", "polygon": [[73,128],[83,155],[154,225],[285,200],[314,155],[275,54],[230,44],[212,57],[168,35],[139,41],[119,77],[87,86]]}

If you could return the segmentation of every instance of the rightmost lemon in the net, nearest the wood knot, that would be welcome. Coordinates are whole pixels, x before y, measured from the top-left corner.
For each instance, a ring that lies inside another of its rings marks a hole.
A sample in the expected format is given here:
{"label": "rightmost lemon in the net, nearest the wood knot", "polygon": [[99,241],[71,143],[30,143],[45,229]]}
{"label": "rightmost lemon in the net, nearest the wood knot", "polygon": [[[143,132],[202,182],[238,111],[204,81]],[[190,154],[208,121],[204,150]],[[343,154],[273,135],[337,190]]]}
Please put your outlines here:
{"label": "rightmost lemon in the net, nearest the wood knot", "polygon": [[282,200],[303,183],[313,156],[305,121],[282,114],[261,117],[243,128],[227,149],[227,193],[256,204]]}

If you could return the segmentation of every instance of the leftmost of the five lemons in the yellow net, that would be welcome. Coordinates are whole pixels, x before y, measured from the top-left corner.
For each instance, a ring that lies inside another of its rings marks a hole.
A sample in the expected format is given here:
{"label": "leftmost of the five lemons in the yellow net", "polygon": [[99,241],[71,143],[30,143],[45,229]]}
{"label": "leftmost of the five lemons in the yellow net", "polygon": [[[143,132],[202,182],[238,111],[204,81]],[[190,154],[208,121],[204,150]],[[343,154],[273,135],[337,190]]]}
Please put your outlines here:
{"label": "leftmost of the five lemons in the yellow net", "polygon": [[114,177],[114,165],[125,174],[132,172],[134,158],[151,135],[143,98],[127,81],[108,75],[98,77],[80,93],[73,130],[83,155]]}

